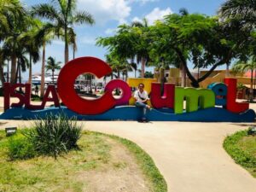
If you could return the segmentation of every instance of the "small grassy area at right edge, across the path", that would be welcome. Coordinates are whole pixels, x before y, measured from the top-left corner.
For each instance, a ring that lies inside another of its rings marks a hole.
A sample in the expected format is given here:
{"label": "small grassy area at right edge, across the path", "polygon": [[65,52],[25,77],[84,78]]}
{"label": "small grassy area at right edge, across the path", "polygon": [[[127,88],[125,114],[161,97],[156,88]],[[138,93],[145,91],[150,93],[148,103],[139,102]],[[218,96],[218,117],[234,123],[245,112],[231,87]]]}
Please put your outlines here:
{"label": "small grassy area at right edge, across the path", "polygon": [[256,137],[247,135],[247,131],[238,131],[226,137],[224,148],[237,164],[256,177]]}

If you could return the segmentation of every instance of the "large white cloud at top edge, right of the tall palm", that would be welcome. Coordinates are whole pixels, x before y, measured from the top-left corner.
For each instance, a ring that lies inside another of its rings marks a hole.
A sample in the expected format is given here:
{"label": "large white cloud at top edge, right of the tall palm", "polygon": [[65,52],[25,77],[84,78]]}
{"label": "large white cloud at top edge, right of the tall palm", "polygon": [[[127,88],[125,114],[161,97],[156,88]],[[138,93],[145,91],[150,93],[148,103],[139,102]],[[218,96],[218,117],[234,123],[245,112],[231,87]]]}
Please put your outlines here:
{"label": "large white cloud at top edge, right of the tall palm", "polygon": [[131,13],[131,6],[125,0],[78,0],[78,9],[89,12],[100,25],[109,20],[124,23]]}

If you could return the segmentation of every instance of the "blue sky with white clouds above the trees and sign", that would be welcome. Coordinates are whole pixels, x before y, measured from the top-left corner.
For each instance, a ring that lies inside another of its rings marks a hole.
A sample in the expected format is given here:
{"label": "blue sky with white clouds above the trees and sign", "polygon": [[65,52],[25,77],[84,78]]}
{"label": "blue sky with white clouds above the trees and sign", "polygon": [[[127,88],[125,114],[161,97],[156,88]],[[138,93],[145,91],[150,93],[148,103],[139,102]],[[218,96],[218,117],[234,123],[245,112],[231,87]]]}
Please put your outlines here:
{"label": "blue sky with white clouds above the trees and sign", "polygon": [[[21,0],[26,7],[38,3],[51,3],[51,0]],[[108,37],[114,34],[114,30],[123,23],[131,23],[134,20],[146,18],[149,24],[154,20],[160,20],[164,15],[178,13],[181,8],[186,8],[189,13],[215,15],[224,0],[77,0],[77,9],[85,10],[93,15],[96,20],[94,26],[75,26],[77,33],[78,52],[76,57],[95,56],[104,60],[108,50],[95,45],[96,38]],[[73,52],[70,49],[70,59]],[[41,51],[42,54],[42,51]],[[46,58],[55,57],[57,61],[64,61],[64,42],[54,39],[46,47]],[[32,73],[40,73],[41,62],[38,61]],[[27,79],[28,72],[23,74]]]}

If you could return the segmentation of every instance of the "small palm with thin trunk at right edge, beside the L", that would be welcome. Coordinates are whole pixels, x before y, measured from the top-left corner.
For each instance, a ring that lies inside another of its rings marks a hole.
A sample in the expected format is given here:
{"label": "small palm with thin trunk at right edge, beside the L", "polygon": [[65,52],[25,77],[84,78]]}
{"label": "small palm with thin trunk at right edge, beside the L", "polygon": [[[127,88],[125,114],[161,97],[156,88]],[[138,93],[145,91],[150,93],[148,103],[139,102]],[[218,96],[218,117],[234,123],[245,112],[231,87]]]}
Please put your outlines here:
{"label": "small palm with thin trunk at right edge, beside the L", "polygon": [[253,72],[256,73],[256,57],[253,56],[251,61],[241,62],[238,61],[232,67],[233,72],[245,73],[247,71],[251,71],[251,85],[250,85],[250,102],[253,102]]}

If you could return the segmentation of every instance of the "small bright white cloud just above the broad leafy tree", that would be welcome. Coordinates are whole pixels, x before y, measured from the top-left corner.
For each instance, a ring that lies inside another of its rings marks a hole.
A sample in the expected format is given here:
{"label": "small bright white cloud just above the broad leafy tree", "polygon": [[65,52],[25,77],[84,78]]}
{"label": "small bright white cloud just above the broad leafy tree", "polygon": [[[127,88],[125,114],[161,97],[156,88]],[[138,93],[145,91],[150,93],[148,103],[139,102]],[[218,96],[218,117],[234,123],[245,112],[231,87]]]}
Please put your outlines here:
{"label": "small bright white cloud just above the broad leafy tree", "polygon": [[148,24],[152,25],[155,20],[163,20],[165,15],[172,14],[171,8],[166,9],[159,9],[154,8],[153,11],[151,11],[148,15],[145,16],[145,18],[148,20]]}

